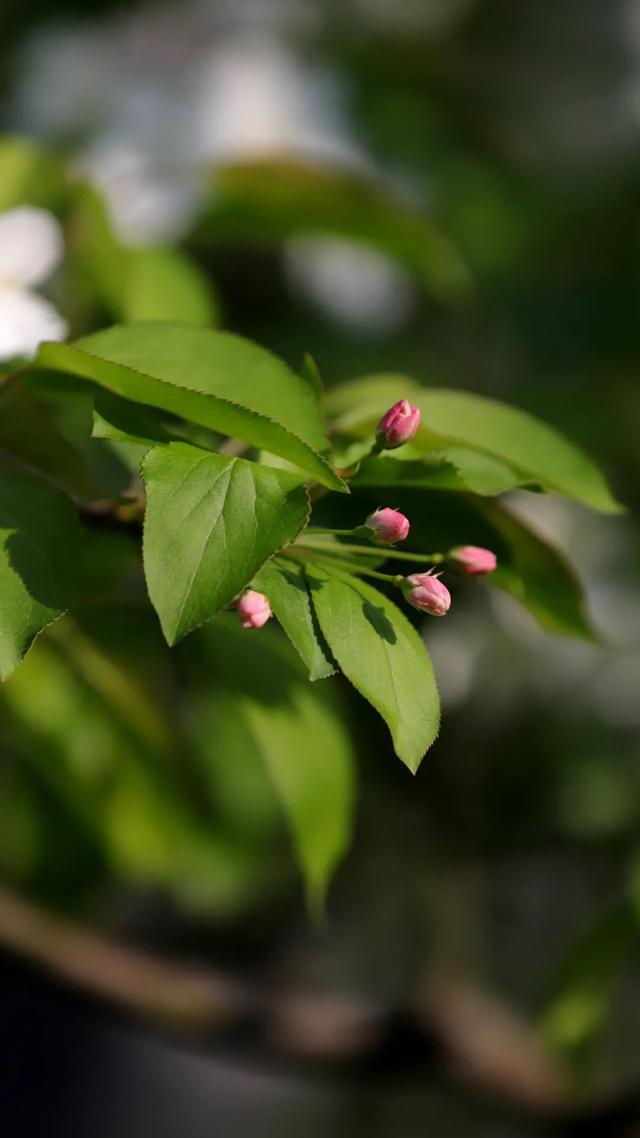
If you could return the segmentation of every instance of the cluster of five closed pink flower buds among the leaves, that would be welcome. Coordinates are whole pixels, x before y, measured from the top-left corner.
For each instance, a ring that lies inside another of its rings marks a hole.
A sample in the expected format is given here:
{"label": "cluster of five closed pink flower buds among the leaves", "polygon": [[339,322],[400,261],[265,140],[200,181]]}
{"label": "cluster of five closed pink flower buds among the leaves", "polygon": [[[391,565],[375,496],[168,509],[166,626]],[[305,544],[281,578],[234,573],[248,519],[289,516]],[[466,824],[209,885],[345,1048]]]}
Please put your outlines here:
{"label": "cluster of five closed pink flower buds among the leaves", "polygon": [[[380,419],[376,430],[376,446],[379,451],[393,451],[413,438],[420,426],[420,411],[409,399],[400,399]],[[358,526],[353,533],[366,537],[375,545],[395,545],[409,536],[409,519],[400,510],[380,506],[369,514],[363,526]],[[384,554],[383,554],[384,555]],[[394,554],[389,554],[394,556]],[[407,554],[395,554],[407,556]],[[434,554],[434,561],[445,562],[467,577],[478,577],[493,572],[497,567],[495,553],[479,545],[457,545],[444,556]],[[374,574],[374,576],[376,576]],[[396,577],[405,600],[421,612],[432,617],[444,617],[451,608],[451,594],[435,572],[435,566],[428,572],[413,572],[409,577]],[[392,580],[393,578],[388,578]],[[236,601],[243,628],[262,628],[272,616],[269,599],[263,593],[248,588]]]}

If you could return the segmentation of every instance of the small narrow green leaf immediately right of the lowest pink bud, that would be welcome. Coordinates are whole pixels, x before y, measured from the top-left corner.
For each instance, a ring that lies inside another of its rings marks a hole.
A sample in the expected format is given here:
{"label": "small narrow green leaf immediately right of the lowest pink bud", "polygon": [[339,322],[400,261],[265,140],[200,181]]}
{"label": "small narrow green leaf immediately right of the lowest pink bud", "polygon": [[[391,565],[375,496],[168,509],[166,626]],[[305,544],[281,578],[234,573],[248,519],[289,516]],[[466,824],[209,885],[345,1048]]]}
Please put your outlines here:
{"label": "small narrow green leaf immediately right of the lowest pink bud", "polygon": [[336,669],[318,628],[302,566],[273,558],[262,567],[253,584],[269,597],[273,612],[309,669],[309,678],[333,676]]}

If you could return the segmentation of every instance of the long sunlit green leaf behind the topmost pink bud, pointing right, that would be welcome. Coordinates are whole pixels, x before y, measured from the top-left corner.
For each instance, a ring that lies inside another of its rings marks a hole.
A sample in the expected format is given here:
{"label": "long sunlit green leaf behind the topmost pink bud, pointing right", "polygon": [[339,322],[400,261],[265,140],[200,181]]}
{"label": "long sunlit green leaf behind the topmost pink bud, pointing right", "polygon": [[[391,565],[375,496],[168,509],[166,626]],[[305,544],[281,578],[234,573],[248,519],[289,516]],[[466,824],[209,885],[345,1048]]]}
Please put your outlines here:
{"label": "long sunlit green leaf behind the topmost pink bud, pointing right", "polygon": [[370,431],[394,402],[389,393],[420,407],[422,426],[413,445],[427,452],[443,444],[482,451],[507,463],[520,483],[540,484],[605,513],[620,512],[598,468],[573,443],[524,411],[468,391],[425,389],[401,376],[369,376],[328,401],[336,430]]}

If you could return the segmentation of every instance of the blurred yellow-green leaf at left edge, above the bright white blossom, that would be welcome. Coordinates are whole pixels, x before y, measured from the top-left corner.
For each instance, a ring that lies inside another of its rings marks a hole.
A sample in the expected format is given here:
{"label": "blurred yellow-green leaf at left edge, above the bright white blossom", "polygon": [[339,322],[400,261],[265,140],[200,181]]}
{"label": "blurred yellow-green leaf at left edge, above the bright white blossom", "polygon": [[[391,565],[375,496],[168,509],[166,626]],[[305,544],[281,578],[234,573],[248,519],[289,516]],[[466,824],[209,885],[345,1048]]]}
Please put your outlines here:
{"label": "blurred yellow-green leaf at left edge, above the bright white blossom", "polygon": [[26,139],[0,138],[0,212],[24,205],[57,209],[66,192],[55,155]]}

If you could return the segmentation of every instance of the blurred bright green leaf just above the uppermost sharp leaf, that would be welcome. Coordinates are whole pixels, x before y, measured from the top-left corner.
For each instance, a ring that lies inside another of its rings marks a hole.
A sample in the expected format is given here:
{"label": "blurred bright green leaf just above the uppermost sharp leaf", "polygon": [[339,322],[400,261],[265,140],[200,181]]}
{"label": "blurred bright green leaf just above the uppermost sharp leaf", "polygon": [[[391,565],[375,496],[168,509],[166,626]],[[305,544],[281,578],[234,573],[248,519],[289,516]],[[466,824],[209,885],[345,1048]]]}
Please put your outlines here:
{"label": "blurred bright green leaf just above the uppermost sharp leaf", "polygon": [[126,322],[183,320],[215,324],[213,289],[202,270],[179,249],[128,249],[120,312]]}

